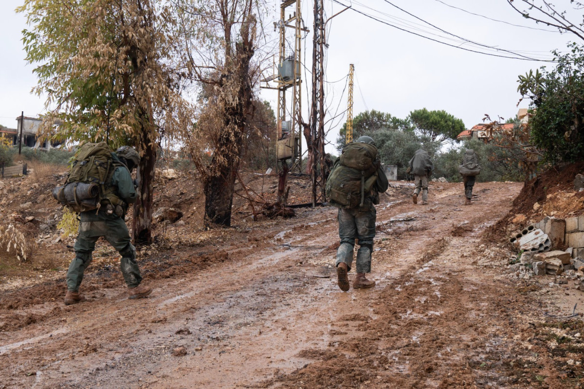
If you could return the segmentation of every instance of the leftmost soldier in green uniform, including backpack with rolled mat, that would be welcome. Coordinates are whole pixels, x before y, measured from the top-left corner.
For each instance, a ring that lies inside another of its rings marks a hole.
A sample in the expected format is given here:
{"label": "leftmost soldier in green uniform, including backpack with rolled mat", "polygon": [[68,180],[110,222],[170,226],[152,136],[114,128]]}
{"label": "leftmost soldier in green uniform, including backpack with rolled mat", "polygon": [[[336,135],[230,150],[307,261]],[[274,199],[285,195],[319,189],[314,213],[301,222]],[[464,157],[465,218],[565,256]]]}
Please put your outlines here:
{"label": "leftmost soldier in green uniform, including backpack with rolled mat", "polygon": [[79,286],[91,263],[95,243],[102,236],[121,255],[120,269],[130,299],[145,297],[152,292],[152,288],[140,285],[142,277],[136,262],[136,250],[124,222],[128,206],[136,199],[130,173],[139,162],[136,150],[128,146],[112,153],[105,142],[86,143],[75,156],[65,187],[53,191],[53,196],[61,204],[79,212],[80,221],[74,246],[75,258],[67,271],[65,304],[85,300],[79,294]]}

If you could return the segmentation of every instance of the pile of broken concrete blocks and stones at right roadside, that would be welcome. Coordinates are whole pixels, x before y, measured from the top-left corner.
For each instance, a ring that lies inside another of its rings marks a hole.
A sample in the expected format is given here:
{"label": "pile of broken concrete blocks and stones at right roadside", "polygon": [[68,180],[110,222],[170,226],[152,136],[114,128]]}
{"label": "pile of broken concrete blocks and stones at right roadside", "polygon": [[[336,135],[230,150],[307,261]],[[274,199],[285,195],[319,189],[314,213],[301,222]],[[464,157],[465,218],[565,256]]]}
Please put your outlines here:
{"label": "pile of broken concrete blocks and stones at right roadside", "polygon": [[584,215],[567,219],[545,217],[509,241],[522,250],[518,258],[512,258],[518,262],[510,265],[517,276],[527,279],[554,275],[555,283],[572,279],[584,291]]}

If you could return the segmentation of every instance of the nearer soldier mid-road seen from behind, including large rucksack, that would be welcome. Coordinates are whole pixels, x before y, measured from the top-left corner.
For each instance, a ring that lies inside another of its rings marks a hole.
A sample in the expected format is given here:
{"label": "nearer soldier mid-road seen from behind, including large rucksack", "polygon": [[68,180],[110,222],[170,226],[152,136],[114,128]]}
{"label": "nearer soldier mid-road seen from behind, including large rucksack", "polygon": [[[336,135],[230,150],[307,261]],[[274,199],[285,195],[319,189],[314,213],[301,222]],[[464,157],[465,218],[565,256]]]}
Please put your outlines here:
{"label": "nearer soldier mid-road seen from behind, including large rucksack", "polygon": [[339,288],[344,292],[349,290],[348,272],[353,262],[355,239],[359,242],[359,250],[353,289],[375,285],[375,281],[365,275],[371,272],[376,234],[374,204],[379,204],[379,193],[385,192],[387,187],[387,177],[381,169],[373,138],[361,136],[357,142],[343,148],[326,181],[326,197],[339,208],[340,246],[336,251],[336,272]]}

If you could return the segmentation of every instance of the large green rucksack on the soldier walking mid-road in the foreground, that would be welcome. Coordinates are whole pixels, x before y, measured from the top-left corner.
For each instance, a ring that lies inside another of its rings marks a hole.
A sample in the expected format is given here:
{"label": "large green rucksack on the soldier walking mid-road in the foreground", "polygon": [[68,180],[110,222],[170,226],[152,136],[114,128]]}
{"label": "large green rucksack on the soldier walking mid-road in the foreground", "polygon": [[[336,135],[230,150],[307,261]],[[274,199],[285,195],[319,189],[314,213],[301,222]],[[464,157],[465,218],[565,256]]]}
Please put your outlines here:
{"label": "large green rucksack on the soldier walking mid-road in the foreground", "polygon": [[367,143],[349,143],[335,161],[326,180],[325,195],[342,208],[363,205],[365,194],[377,181],[377,148]]}

